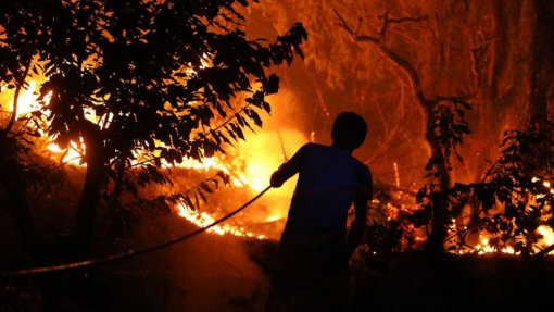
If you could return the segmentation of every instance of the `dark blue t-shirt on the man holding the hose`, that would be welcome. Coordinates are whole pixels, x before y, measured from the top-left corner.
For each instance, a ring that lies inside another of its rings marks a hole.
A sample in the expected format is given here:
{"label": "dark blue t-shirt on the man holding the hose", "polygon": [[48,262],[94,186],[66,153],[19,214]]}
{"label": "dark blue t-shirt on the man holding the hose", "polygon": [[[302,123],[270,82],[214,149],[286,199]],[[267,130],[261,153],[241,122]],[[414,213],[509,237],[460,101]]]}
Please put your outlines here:
{"label": "dark blue t-shirt on the man holding the hose", "polygon": [[278,172],[299,174],[281,245],[343,244],[354,197],[365,190],[370,198],[369,169],[348,150],[306,143]]}

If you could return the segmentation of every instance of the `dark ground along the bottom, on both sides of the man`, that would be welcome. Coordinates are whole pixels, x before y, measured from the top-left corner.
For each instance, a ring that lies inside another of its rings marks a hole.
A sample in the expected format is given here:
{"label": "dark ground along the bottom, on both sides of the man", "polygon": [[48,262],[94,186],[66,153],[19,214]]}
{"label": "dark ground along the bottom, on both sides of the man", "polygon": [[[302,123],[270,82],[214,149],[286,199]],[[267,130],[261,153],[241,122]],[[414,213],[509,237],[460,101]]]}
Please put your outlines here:
{"label": "dark ground along the bottom, on both sides of the man", "polygon": [[[156,222],[144,222],[144,237],[129,245],[194,229],[182,220],[152,228]],[[84,270],[4,277],[0,312],[262,312],[275,248],[275,240],[201,234]],[[554,294],[552,259],[405,252],[355,258],[351,277],[353,311],[537,311]]]}

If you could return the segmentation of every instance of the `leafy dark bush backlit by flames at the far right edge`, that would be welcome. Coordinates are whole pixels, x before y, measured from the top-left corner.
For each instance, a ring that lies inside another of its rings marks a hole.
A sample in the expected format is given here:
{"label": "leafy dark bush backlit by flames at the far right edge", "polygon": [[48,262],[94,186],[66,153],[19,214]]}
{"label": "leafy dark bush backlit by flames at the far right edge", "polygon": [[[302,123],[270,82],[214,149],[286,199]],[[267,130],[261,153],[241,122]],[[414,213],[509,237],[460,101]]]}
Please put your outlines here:
{"label": "leafy dark bush backlit by flames at the far right edge", "polygon": [[506,130],[502,153],[482,182],[456,184],[449,190],[451,212],[459,203],[471,210],[467,228],[453,239],[453,250],[466,250],[468,235],[484,232],[495,251],[513,248],[524,257],[544,253],[547,246],[538,245],[542,238],[539,227],[554,226],[553,130],[547,122],[541,122],[541,127],[532,123],[526,130]]}

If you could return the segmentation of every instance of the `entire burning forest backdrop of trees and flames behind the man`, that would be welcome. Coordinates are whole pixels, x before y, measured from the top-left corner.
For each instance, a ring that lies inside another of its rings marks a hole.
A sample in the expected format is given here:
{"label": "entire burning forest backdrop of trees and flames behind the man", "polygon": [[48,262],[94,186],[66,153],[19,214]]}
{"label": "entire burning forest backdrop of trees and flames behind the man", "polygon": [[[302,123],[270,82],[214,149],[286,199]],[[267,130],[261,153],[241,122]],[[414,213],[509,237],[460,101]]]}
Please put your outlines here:
{"label": "entire burning forest backdrop of trees and flames behind the man", "polygon": [[[481,2],[2,4],[0,208],[26,263],[89,259],[141,209],[210,226],[345,110],[375,174],[357,267],[553,254],[554,8]],[[293,185],[210,232],[275,241]]]}

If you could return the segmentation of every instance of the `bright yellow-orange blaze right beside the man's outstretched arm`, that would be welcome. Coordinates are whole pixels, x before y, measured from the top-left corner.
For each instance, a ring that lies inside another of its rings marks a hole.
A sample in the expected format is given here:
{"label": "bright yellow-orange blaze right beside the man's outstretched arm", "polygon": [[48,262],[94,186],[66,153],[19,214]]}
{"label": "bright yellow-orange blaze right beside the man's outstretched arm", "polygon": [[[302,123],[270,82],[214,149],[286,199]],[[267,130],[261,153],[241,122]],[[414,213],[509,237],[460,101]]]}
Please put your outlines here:
{"label": "bright yellow-orange blaze right beside the man's outstretched arm", "polygon": [[[275,145],[279,136],[286,138],[286,146]],[[223,171],[229,175],[235,191],[253,197],[268,186],[270,174],[287,160],[287,157],[305,142],[306,138],[297,130],[265,130],[247,137],[247,142],[239,142],[237,148],[229,152],[229,155],[213,157],[205,159],[203,162],[190,160],[181,165],[198,171],[212,169]],[[262,199],[253,203],[245,215],[235,219],[240,219],[239,223],[242,224],[272,224],[284,221],[295,179],[293,177],[280,188],[272,189]],[[238,208],[240,203],[237,201],[237,207],[225,207],[225,209],[230,211]],[[185,202],[178,203],[175,209],[180,216],[199,226],[206,226],[214,221],[213,215],[196,211]],[[219,235],[232,234],[257,239],[275,237],[278,234],[276,228],[272,228],[269,232],[254,233],[240,225],[228,224],[215,226],[211,232]]]}

